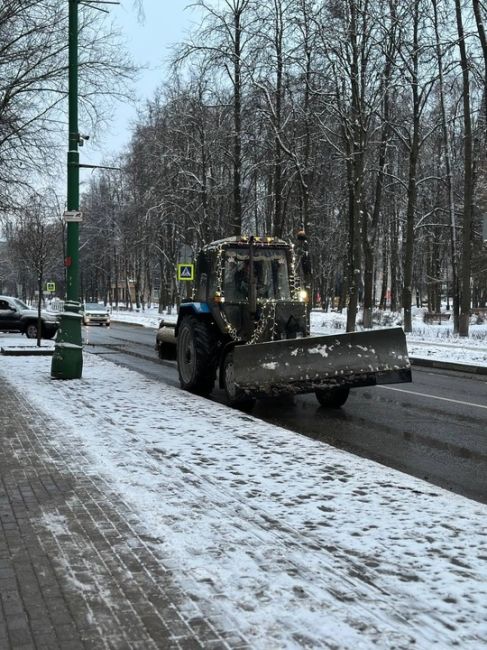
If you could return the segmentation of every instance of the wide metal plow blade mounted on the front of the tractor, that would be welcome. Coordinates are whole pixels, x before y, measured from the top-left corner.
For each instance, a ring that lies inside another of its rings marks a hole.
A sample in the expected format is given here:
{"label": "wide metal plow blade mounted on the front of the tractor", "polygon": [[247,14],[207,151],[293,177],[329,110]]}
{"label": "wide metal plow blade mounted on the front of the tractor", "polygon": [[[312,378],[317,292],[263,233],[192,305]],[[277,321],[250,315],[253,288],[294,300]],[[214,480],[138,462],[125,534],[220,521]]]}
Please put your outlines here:
{"label": "wide metal plow blade mounted on the front of the tractor", "polygon": [[233,362],[235,384],[255,395],[411,381],[400,327],[238,345]]}

